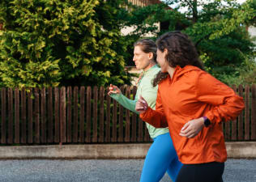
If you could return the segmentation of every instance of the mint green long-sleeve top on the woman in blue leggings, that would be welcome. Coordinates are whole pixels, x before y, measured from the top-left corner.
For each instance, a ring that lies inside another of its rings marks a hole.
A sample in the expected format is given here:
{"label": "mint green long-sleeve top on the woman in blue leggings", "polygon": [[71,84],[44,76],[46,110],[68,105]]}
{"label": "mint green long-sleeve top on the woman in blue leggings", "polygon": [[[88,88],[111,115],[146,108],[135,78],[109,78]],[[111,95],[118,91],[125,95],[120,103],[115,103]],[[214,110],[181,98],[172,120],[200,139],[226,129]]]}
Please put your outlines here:
{"label": "mint green long-sleeve top on the woman in blue leggings", "polygon": [[[146,99],[147,104],[151,108],[155,109],[158,86],[153,87],[151,84],[151,80],[153,78],[155,78],[156,74],[159,71],[160,71],[160,68],[157,65],[152,66],[147,71],[143,71],[143,76],[139,80],[139,86],[137,88],[137,92],[136,92],[134,100],[128,99],[125,95],[122,95],[122,94],[111,94],[110,96],[113,99],[116,99],[119,104],[122,104],[122,106],[124,108],[127,108],[130,111],[136,112],[137,114],[139,114],[139,112],[137,112],[135,110],[135,104],[136,104],[137,100],[139,99],[139,96],[142,95],[143,98]],[[148,133],[151,138],[156,138],[160,134],[169,132],[168,128],[156,129],[154,126],[149,125],[148,123],[146,123],[146,125],[147,125],[147,129],[148,129]]]}

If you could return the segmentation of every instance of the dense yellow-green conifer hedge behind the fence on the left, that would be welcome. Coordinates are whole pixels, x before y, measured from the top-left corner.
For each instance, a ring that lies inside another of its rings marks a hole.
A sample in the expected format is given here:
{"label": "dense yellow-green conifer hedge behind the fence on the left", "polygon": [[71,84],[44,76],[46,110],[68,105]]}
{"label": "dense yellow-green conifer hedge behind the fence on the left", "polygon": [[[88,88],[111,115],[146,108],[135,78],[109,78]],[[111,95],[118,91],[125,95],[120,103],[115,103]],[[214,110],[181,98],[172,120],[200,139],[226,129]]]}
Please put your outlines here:
{"label": "dense yellow-green conifer hedge behind the fence on the left", "polygon": [[2,0],[0,78],[4,87],[130,82],[116,21],[122,1]]}

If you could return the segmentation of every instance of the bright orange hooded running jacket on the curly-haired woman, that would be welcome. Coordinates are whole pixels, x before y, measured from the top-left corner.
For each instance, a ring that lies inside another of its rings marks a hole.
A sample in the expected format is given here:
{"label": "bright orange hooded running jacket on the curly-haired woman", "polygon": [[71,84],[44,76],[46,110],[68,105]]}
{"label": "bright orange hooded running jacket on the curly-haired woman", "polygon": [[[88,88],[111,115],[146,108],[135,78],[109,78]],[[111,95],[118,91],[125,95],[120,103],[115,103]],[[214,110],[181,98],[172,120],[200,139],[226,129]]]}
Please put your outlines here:
{"label": "bright orange hooded running jacket on the curly-haired woman", "polygon": [[[233,121],[244,108],[233,89],[195,66],[177,66],[173,78],[159,83],[156,111],[147,108],[143,121],[156,128],[169,126],[181,163],[210,163],[227,159],[223,121]],[[207,116],[211,121],[194,138],[179,135],[186,122]]]}

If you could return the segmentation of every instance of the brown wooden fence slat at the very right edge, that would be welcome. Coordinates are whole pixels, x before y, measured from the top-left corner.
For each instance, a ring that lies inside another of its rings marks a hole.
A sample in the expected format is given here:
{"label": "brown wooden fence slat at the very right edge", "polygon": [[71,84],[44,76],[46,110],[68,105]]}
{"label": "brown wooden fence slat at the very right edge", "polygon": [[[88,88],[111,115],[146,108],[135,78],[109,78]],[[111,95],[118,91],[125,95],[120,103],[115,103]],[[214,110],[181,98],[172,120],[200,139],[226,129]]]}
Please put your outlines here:
{"label": "brown wooden fence slat at the very right edge", "polygon": [[251,140],[256,140],[256,85],[252,85],[252,101],[251,101]]}

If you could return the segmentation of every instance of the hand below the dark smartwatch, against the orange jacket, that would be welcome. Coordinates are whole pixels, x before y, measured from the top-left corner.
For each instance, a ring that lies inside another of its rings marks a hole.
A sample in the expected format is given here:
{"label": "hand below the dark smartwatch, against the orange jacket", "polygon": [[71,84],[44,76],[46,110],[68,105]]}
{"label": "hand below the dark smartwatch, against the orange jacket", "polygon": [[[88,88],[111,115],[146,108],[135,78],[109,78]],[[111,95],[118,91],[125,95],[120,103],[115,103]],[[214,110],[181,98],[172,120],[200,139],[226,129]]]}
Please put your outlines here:
{"label": "hand below the dark smartwatch, against the orange jacket", "polygon": [[194,138],[203,129],[203,117],[188,121],[181,129],[180,135],[186,138]]}

